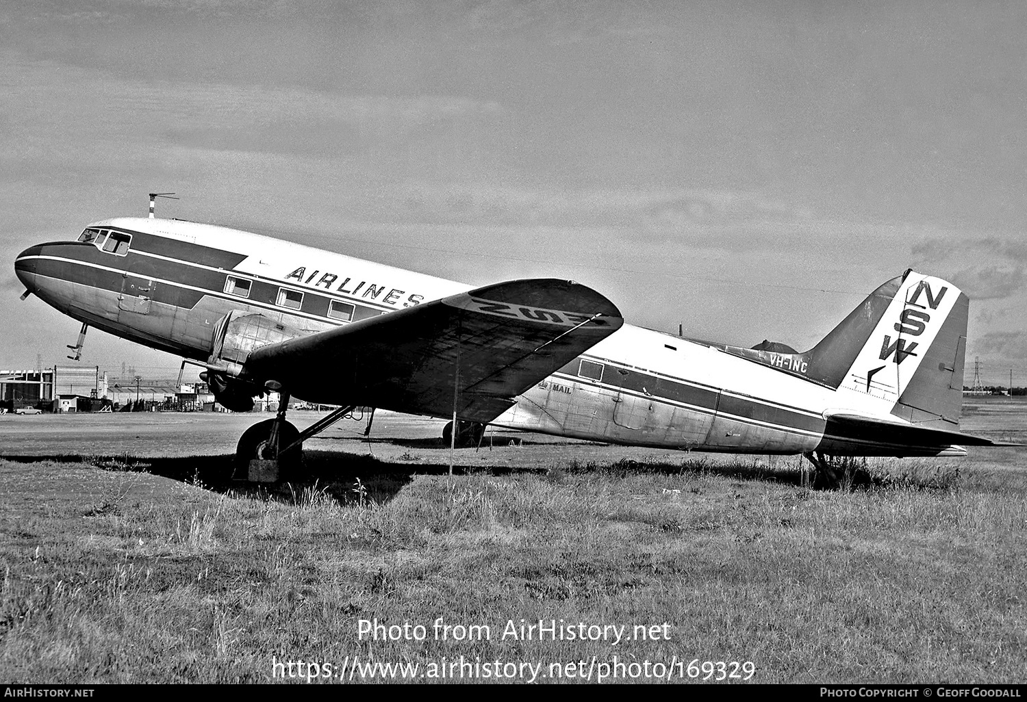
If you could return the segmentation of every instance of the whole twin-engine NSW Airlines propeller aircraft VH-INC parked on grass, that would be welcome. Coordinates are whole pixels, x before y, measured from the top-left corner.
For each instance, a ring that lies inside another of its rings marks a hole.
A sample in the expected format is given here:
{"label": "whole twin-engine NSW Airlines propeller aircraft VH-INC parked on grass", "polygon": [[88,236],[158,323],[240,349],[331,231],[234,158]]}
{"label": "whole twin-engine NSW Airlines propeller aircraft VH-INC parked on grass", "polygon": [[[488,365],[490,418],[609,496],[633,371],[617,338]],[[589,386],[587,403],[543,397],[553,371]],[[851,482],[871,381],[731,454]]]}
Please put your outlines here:
{"label": "whole twin-engine NSW Airlines propeller aircraft VH-INC parked on grass", "polygon": [[[584,285],[485,287],[205,224],[122,218],[14,263],[26,286],[87,326],[205,366],[233,411],[280,391],[236,464],[294,467],[302,441],[354,406],[611,443],[749,454],[963,456],[968,300],[908,270],[803,353],[739,348],[624,323]],[[341,405],[300,433],[289,396]],[[962,445],[959,445],[962,444]],[[265,469],[261,473],[261,467]],[[236,474],[238,475],[238,470]]]}

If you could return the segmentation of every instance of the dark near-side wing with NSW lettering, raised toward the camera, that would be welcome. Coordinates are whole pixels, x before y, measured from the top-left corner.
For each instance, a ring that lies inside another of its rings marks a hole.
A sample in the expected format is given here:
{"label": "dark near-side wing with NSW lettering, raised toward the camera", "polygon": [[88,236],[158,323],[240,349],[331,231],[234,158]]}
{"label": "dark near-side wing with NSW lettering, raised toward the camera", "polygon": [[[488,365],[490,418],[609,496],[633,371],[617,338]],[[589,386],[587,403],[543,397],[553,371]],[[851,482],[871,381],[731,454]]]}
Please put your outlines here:
{"label": "dark near-side wing with NSW lettering, raised toward the camera", "polygon": [[479,287],[328,332],[263,346],[248,374],[311,402],[489,422],[514,398],[623,323],[577,283]]}

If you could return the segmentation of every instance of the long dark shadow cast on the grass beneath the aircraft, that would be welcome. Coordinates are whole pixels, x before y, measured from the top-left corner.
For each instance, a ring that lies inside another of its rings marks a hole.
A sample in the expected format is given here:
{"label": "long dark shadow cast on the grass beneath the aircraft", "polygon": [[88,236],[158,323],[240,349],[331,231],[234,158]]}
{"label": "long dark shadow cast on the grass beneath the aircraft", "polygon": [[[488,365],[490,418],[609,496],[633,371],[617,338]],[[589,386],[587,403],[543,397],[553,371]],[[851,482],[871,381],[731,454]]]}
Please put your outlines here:
{"label": "long dark shadow cast on the grass beneath the aircraft", "polygon": [[[448,451],[441,446],[439,439],[378,439],[401,446]],[[484,447],[483,447],[484,450]],[[374,502],[384,504],[392,500],[415,475],[447,475],[448,463],[425,463],[418,456],[410,460],[393,462],[379,459],[371,454],[307,450],[304,452],[303,466],[292,479],[275,484],[251,483],[233,480],[234,457],[186,456],[186,457],[135,457],[135,456],[0,456],[0,459],[17,463],[72,463],[113,472],[142,472],[200,486],[215,493],[252,495],[261,499],[297,504],[303,499],[304,491],[316,491],[343,505]],[[595,475],[597,478],[623,478],[631,475],[682,475],[719,476],[738,481],[776,482],[800,485],[797,470],[789,466],[767,466],[759,463],[735,463],[727,465],[710,464],[702,459],[685,460],[680,464],[647,463],[620,459],[612,462],[567,461],[558,468],[536,468],[518,466],[483,467],[481,465],[456,464],[456,475],[546,475],[553,477]]]}

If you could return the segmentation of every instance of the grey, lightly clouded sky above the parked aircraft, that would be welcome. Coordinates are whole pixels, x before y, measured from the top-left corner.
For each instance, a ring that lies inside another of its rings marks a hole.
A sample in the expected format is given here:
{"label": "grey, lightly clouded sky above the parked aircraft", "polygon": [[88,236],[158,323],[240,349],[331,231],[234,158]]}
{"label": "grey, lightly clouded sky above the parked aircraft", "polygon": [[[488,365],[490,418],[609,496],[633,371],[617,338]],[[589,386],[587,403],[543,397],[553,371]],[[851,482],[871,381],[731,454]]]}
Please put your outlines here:
{"label": "grey, lightly clouded sky above the parked aircraft", "polygon": [[[971,298],[966,380],[1027,385],[1027,5],[0,3],[0,367],[78,323],[13,259],[158,216],[632,323],[813,346],[907,268]],[[90,330],[80,361],[174,377]]]}

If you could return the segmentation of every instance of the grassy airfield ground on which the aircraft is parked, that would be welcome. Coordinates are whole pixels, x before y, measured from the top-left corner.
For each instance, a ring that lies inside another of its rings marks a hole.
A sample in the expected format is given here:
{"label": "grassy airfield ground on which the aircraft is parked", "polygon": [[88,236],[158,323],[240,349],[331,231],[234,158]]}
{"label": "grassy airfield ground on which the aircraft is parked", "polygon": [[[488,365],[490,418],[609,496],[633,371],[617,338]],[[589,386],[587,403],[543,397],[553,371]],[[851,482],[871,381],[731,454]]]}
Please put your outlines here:
{"label": "grassy airfield ground on which the aircraft is parked", "polygon": [[[968,402],[963,428],[1023,441],[1025,410]],[[4,419],[2,682],[270,681],[300,659],[348,679],[354,657],[418,680],[461,656],[541,663],[539,681],[572,661],[638,681],[751,662],[756,682],[1022,681],[1027,664],[1024,449],[873,461],[868,484],[808,492],[798,459],[499,434],[451,478],[441,424],[383,416],[372,442],[352,425],[311,441],[269,491],[215,478],[252,417]],[[436,637],[440,617],[490,635]],[[375,619],[426,635],[362,637]],[[502,635],[521,620],[626,628]]]}

